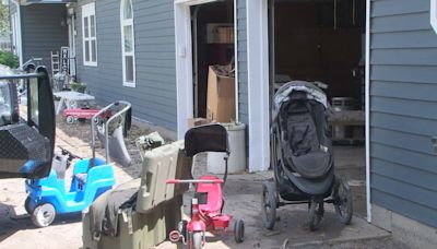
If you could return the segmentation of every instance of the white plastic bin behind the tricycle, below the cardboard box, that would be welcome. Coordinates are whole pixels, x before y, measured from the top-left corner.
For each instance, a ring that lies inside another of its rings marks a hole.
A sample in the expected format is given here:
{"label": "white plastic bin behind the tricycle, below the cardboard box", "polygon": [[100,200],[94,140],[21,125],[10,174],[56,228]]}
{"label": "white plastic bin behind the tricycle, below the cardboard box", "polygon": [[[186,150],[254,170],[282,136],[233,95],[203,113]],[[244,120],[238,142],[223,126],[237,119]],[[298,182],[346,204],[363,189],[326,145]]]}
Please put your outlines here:
{"label": "white plastic bin behind the tricycle, below the cardboard box", "polygon": [[[231,155],[227,161],[227,173],[243,173],[246,169],[246,138],[244,123],[221,123],[227,130]],[[225,173],[225,153],[209,152],[206,169],[211,174]]]}

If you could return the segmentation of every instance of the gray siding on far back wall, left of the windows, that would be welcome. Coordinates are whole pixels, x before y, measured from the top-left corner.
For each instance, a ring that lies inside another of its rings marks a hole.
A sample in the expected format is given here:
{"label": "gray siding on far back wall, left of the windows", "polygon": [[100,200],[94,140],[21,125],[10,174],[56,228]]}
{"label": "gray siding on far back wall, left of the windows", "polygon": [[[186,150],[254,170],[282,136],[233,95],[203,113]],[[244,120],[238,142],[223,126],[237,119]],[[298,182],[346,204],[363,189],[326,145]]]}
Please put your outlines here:
{"label": "gray siding on far back wall, left of the windows", "polygon": [[23,62],[32,57],[43,58],[40,63],[51,71],[50,51],[59,51],[62,46],[69,46],[66,5],[22,5],[21,19]]}

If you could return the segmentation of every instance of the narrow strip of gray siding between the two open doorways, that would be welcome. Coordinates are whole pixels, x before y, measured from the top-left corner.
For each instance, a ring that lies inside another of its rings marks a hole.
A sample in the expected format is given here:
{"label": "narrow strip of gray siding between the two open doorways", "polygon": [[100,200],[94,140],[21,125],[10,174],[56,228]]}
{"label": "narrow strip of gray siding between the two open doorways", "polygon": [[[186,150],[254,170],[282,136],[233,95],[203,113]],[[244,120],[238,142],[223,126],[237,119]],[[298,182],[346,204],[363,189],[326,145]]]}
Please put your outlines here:
{"label": "narrow strip of gray siding between the two open doorways", "polygon": [[247,23],[246,0],[237,0],[237,58],[238,58],[238,116],[239,121],[249,122],[248,74],[247,74]]}

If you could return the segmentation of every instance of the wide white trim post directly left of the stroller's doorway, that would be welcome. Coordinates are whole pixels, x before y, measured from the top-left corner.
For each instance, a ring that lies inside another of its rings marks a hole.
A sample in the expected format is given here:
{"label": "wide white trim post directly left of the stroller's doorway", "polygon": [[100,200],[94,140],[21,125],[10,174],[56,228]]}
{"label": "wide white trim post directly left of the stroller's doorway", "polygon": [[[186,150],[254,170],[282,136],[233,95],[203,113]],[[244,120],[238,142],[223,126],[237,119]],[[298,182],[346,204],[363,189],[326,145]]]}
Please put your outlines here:
{"label": "wide white trim post directly left of the stroller's doorway", "polygon": [[246,0],[249,171],[270,165],[268,1]]}

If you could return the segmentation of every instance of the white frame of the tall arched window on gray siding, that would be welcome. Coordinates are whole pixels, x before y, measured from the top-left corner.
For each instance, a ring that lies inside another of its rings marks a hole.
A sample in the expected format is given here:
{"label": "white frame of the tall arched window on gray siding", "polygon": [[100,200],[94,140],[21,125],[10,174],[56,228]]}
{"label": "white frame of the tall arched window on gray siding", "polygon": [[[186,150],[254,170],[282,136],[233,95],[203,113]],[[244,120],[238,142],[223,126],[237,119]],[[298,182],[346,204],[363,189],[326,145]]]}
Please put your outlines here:
{"label": "white frame of the tall arched window on gray siding", "polygon": [[[132,11],[132,17],[131,19],[125,19],[125,3],[127,0],[121,0],[120,1],[120,28],[121,28],[121,60],[122,60],[122,82],[123,86],[128,87],[135,87],[137,86],[137,66],[135,66],[135,29],[133,26],[133,7],[132,7],[132,0],[130,1],[130,7]],[[126,26],[132,26],[132,51],[127,52],[125,51],[125,27]],[[132,76],[132,82],[126,81],[126,57],[131,56],[132,57],[132,70],[133,70],[133,76]]]}

